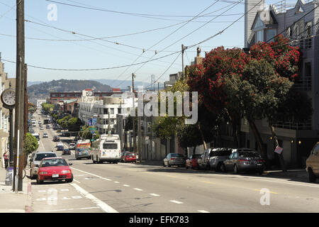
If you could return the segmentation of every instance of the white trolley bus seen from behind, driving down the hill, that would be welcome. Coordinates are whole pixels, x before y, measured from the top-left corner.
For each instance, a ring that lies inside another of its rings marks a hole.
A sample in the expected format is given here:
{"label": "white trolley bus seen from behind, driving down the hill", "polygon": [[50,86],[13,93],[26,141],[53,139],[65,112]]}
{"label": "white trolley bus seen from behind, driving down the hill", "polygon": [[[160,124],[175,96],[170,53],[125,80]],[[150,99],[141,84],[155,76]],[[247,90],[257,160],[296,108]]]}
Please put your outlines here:
{"label": "white trolley bus seen from behind, driving down the hill", "polygon": [[100,138],[92,143],[93,163],[110,162],[117,164],[121,160],[121,140],[117,134],[100,135]]}

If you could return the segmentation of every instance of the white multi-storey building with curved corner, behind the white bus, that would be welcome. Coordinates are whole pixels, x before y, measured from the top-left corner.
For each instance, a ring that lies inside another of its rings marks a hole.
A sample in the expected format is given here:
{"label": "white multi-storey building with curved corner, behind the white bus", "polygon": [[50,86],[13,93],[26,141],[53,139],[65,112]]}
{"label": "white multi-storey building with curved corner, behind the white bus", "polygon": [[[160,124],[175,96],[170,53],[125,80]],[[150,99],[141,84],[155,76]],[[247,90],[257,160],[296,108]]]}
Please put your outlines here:
{"label": "white multi-storey building with curved corner, behind the white bus", "polygon": [[[138,99],[135,99],[135,106]],[[133,106],[133,97],[122,98],[118,96],[106,96],[103,100],[96,100],[94,96],[82,96],[79,103],[79,118],[86,126],[96,126],[100,134],[116,131],[116,116],[130,111]]]}

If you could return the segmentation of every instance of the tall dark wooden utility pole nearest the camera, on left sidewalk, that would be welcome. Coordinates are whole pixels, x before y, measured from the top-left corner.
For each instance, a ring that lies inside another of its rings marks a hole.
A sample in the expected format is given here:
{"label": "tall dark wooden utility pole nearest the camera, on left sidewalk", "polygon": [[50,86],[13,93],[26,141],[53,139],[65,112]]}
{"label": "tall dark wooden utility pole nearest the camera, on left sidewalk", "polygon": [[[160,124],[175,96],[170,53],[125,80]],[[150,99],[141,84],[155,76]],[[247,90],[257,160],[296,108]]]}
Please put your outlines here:
{"label": "tall dark wooden utility pole nearest the camera, on left sidewalk", "polygon": [[[24,0],[16,0],[16,121],[13,190],[22,191],[24,115]],[[18,170],[18,171],[17,171]],[[17,176],[18,173],[18,177]]]}

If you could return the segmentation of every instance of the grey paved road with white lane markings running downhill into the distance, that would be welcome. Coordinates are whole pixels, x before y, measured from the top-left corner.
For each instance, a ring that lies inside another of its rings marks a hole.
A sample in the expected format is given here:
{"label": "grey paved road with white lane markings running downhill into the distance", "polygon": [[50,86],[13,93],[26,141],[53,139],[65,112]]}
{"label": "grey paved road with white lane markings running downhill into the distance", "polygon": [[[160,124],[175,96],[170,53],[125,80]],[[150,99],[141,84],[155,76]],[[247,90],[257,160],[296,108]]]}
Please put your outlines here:
{"label": "grey paved road with white lane markings running downhill into the distance", "polygon": [[[57,133],[44,132],[49,138],[41,138],[38,150],[56,149],[52,137]],[[74,153],[62,157],[73,164],[74,182],[37,185],[33,180],[33,212],[319,212],[319,184],[177,167],[93,164],[75,160]]]}

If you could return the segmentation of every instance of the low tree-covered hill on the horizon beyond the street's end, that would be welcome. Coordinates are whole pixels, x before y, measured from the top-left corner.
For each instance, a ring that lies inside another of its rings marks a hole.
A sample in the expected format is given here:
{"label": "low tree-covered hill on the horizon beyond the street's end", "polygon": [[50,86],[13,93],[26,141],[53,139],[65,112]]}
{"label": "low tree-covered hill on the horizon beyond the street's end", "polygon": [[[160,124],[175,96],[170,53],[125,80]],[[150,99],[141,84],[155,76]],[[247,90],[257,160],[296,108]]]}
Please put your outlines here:
{"label": "low tree-covered hill on the horizon beyond the street's end", "polygon": [[50,96],[50,92],[75,92],[88,88],[96,92],[112,90],[110,86],[94,80],[59,79],[28,86],[28,96],[30,99],[46,99]]}

